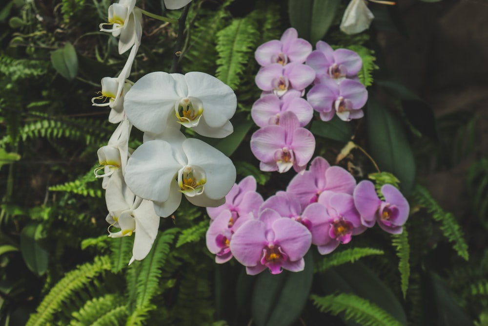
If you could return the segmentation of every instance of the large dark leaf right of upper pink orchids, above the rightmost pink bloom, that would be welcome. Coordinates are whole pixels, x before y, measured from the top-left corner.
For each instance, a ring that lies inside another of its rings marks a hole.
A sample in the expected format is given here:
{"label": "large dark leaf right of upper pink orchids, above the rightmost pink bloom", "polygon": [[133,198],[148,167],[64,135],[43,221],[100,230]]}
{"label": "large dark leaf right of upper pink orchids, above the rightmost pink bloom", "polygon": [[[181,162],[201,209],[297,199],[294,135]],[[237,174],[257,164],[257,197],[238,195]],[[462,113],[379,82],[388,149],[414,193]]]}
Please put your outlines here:
{"label": "large dark leaf right of upper pink orchids, above the rightmost pink bloom", "polygon": [[408,196],[415,182],[415,160],[403,125],[373,98],[366,112],[370,154],[381,170],[398,177],[402,193]]}

